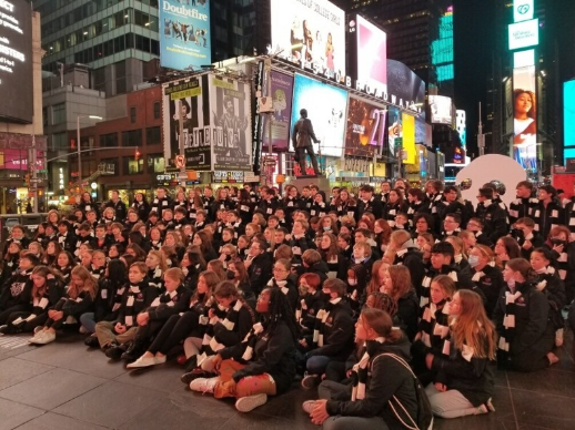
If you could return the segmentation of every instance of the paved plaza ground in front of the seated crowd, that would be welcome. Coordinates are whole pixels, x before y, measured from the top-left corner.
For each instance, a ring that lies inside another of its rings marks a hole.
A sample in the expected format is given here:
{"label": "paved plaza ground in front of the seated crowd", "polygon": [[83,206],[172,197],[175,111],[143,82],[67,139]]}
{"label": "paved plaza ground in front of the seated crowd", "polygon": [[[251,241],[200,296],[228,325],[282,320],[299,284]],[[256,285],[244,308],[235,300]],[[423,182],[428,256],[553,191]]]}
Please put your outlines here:
{"label": "paved plaza ground in front of the seated crowd", "polygon": [[[99,350],[88,349],[79,335],[34,347],[29,336],[0,337],[0,430],[317,429],[301,403],[314,396],[294,388],[250,413],[232,400],[191,392],[175,362],[127,371]],[[573,430],[575,364],[572,334],[558,350],[561,362],[536,373],[498,371],[496,412],[435,420],[441,430]],[[568,354],[567,354],[568,351]],[[353,429],[351,429],[353,430]],[[375,430],[375,429],[374,429]]]}

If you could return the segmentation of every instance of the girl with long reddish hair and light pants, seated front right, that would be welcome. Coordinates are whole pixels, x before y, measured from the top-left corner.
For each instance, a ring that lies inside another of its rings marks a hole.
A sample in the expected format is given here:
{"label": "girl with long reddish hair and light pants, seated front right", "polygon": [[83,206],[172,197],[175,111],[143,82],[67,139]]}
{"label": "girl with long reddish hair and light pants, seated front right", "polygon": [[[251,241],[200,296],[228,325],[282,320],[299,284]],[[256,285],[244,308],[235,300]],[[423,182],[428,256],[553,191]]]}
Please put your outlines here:
{"label": "girl with long reddish hair and light pants, seated front right", "polygon": [[478,294],[460,289],[450,305],[450,342],[425,357],[435,372],[425,391],[433,413],[456,418],[495,411],[491,362],[495,360],[496,331]]}

